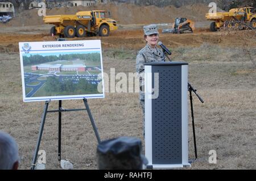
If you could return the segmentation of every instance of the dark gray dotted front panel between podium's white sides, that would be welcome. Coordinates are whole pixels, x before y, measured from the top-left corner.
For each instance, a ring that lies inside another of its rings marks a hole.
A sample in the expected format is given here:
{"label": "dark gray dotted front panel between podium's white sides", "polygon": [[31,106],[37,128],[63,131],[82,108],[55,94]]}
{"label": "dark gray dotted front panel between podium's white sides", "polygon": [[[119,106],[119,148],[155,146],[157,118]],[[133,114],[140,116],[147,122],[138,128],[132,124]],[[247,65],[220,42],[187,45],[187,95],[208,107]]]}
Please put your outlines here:
{"label": "dark gray dotted front panel between podium's white sides", "polygon": [[152,72],[159,73],[159,95],[152,99],[152,162],[181,163],[181,66],[152,66]]}

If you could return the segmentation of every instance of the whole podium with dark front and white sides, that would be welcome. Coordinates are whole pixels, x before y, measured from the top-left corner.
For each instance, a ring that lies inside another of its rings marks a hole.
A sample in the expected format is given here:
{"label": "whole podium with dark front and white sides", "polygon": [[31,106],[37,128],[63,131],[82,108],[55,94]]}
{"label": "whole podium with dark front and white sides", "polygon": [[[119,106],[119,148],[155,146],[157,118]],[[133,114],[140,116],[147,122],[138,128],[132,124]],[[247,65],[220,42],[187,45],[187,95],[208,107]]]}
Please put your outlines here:
{"label": "whole podium with dark front and white sides", "polygon": [[145,65],[145,151],[152,167],[188,165],[187,69],[187,64]]}

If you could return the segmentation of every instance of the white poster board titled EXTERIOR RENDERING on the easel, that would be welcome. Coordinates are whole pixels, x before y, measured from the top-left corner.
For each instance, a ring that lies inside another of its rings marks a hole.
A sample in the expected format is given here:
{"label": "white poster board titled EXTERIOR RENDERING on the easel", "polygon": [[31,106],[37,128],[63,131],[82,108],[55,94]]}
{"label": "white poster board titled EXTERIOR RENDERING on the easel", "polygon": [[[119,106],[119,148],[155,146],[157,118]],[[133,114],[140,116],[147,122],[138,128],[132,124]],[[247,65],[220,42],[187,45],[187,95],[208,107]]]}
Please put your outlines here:
{"label": "white poster board titled EXTERIOR RENDERING on the easel", "polygon": [[23,101],[104,98],[100,40],[19,43]]}

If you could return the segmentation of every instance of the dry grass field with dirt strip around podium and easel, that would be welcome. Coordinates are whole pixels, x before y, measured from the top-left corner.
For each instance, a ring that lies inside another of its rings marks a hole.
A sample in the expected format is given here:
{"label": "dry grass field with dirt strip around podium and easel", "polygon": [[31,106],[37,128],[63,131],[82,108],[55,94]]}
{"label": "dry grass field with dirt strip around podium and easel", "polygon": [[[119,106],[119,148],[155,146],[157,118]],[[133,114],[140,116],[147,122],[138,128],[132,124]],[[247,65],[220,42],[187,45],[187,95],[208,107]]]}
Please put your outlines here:
{"label": "dry grass field with dirt strip around podium and easel", "polygon": [[[36,28],[29,28],[36,30]],[[0,35],[0,129],[19,145],[20,169],[30,169],[44,102],[24,103],[18,52],[19,41],[52,40],[46,30]],[[134,73],[137,50],[144,46],[141,30],[120,30],[101,39],[104,71]],[[205,103],[193,95],[197,154],[190,169],[256,169],[256,37],[255,31],[161,34],[174,60],[189,63],[189,82]],[[114,55],[115,54],[115,58]],[[134,136],[143,141],[138,93],[106,93],[88,100],[101,140]],[[189,104],[189,102],[188,102]],[[82,100],[64,100],[64,108],[84,108]],[[49,104],[49,110],[57,102]],[[190,115],[190,112],[189,112]],[[40,149],[46,150],[47,169],[61,169],[57,161],[57,113],[48,113]],[[85,112],[63,113],[62,158],[74,169],[97,169],[97,140]],[[217,164],[209,164],[209,150]],[[189,117],[189,159],[195,158]]]}

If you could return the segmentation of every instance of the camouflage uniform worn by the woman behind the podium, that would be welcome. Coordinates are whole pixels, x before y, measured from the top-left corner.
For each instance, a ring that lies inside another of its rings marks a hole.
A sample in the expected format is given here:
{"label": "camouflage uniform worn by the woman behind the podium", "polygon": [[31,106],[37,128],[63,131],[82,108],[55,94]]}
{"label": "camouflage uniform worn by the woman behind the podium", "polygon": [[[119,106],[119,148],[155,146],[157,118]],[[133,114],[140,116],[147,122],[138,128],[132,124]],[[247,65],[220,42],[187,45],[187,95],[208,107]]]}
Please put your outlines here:
{"label": "camouflage uniform worn by the woman behind the podium", "polygon": [[136,71],[139,76],[140,83],[140,92],[139,92],[139,100],[141,100],[141,106],[144,115],[144,64],[150,62],[160,62],[164,61],[165,56],[163,54],[162,49],[156,47],[151,48],[150,45],[146,45],[142,48],[136,58]]}

